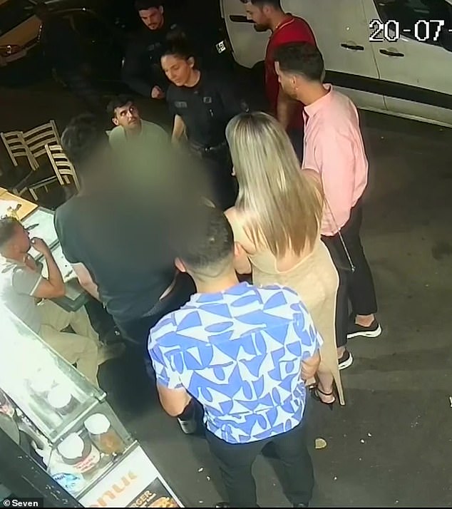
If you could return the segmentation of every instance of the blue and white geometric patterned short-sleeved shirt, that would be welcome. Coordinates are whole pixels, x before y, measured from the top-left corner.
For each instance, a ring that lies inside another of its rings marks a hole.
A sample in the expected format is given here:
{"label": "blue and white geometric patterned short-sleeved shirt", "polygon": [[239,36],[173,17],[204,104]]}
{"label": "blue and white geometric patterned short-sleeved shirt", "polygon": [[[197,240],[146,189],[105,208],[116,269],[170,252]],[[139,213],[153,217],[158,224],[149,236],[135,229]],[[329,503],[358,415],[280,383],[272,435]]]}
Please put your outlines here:
{"label": "blue and white geometric patterned short-sleeved shirt", "polygon": [[296,292],[241,283],[192,296],[150,331],[148,351],[158,383],[200,401],[209,431],[247,443],[301,422],[302,360],[321,345]]}

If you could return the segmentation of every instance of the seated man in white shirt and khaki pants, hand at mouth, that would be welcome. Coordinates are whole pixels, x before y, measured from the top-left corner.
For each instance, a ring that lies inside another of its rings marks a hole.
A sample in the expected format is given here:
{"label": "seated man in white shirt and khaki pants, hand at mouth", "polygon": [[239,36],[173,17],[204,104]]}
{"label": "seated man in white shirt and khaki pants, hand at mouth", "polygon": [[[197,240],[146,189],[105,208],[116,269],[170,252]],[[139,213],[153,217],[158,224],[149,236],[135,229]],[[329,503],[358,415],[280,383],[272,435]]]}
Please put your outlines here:
{"label": "seated man in white shirt and khaki pants, hand at mouth", "polygon": [[[33,245],[46,260],[48,278],[28,252]],[[11,217],[0,219],[0,301],[92,384],[98,386],[98,365],[118,354],[118,346],[101,346],[86,310],[64,311],[50,300],[66,293],[60,269],[43,240]],[[61,332],[71,326],[74,334]]]}

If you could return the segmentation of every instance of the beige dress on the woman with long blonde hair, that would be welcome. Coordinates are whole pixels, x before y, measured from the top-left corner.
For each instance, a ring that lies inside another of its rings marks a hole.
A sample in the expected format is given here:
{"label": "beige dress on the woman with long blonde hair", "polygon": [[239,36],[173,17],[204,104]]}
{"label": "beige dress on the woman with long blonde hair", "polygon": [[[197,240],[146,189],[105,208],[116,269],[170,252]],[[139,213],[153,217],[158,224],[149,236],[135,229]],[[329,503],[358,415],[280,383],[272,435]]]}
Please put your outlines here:
{"label": "beige dress on the woman with long blonde hair", "polygon": [[[231,226],[235,242],[239,244],[243,242],[245,245],[250,243],[239,220],[232,221]],[[252,279],[255,284],[281,284],[298,292],[324,340],[320,349],[322,363],[331,371],[339,402],[344,405],[335,328],[339,277],[327,247],[319,238],[312,252],[285,272],[277,269],[277,260],[269,251],[248,255],[248,257],[252,264]]]}

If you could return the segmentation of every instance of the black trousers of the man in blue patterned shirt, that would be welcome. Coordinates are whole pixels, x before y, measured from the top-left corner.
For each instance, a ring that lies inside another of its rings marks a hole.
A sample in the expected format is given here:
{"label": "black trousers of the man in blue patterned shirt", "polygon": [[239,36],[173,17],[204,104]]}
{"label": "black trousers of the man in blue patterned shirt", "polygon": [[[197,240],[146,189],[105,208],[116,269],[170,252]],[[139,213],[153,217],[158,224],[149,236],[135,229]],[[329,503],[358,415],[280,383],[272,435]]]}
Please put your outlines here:
{"label": "black trousers of the man in blue patterned shirt", "polygon": [[314,471],[307,450],[304,421],[287,433],[256,442],[227,443],[210,431],[206,432],[206,438],[210,452],[220,467],[231,507],[258,507],[252,464],[268,443],[272,443],[284,466],[284,493],[289,502],[297,505],[307,504],[311,500]]}

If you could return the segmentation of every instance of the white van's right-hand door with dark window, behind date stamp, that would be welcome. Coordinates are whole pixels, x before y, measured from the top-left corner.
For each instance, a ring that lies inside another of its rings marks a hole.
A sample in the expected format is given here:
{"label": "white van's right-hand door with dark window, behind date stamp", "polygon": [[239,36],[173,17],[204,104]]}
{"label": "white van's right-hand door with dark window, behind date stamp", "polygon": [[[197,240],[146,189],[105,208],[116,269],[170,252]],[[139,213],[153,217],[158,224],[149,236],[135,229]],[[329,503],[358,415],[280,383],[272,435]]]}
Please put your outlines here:
{"label": "white van's right-hand door with dark window, behind date stamp", "polygon": [[452,1],[364,1],[388,110],[452,125]]}

